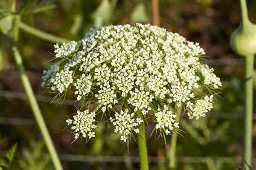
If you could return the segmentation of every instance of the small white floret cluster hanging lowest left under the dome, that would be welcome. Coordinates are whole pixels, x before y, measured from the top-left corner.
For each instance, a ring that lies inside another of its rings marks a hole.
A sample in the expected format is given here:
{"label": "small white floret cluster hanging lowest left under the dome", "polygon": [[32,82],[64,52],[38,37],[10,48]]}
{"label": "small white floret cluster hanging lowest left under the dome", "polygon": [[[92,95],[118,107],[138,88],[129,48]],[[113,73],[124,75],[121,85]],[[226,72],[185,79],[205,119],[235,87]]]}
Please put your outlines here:
{"label": "small white floret cluster hanging lowest left under the dome", "polygon": [[97,126],[93,123],[95,122],[95,113],[89,113],[88,110],[77,111],[76,115],[73,116],[73,119],[67,119],[67,125],[72,125],[71,129],[74,130],[75,139],[78,139],[81,135],[82,137],[92,138],[95,137],[95,129]]}

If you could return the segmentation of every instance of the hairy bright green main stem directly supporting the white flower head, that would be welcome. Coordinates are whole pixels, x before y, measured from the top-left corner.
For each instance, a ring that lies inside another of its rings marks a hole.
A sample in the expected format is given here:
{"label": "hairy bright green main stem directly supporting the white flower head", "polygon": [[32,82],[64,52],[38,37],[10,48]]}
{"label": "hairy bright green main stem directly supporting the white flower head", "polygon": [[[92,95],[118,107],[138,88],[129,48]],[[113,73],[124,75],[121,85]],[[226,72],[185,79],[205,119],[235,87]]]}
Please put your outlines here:
{"label": "hairy bright green main stem directly supporting the white flower head", "polygon": [[[137,115],[140,115],[141,119],[143,119],[143,114],[141,111],[137,111]],[[140,156],[140,170],[148,170],[148,151],[147,151],[147,143],[146,143],[146,135],[145,135],[145,124],[144,122],[139,127],[140,133],[138,134],[138,147],[139,147],[139,156]]]}

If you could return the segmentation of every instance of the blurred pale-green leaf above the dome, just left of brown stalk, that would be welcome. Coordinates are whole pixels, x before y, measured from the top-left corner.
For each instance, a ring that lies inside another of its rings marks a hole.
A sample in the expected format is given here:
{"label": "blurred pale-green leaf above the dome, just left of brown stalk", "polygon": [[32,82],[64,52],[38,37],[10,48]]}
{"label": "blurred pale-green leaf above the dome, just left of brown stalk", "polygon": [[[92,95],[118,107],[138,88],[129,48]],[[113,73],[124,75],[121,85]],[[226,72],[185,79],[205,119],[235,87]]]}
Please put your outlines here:
{"label": "blurred pale-green leaf above the dome, just left of brown stalk", "polygon": [[137,4],[131,13],[131,21],[133,23],[148,23],[148,18],[145,5],[143,3]]}

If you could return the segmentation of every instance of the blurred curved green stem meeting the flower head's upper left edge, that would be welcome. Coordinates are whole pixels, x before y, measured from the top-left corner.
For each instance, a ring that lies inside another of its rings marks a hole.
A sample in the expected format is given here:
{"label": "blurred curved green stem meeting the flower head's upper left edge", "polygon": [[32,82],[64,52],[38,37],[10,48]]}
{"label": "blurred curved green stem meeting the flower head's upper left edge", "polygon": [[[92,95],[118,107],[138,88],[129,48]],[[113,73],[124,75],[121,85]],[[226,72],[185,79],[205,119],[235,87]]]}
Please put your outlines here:
{"label": "blurred curved green stem meeting the flower head's upper left edge", "polygon": [[20,28],[24,31],[26,31],[29,34],[35,35],[41,39],[50,41],[50,42],[69,42],[70,40],[61,38],[61,37],[57,37],[48,33],[45,33],[43,31],[40,31],[38,29],[35,29],[31,26],[26,25],[25,23],[20,22],[19,24]]}

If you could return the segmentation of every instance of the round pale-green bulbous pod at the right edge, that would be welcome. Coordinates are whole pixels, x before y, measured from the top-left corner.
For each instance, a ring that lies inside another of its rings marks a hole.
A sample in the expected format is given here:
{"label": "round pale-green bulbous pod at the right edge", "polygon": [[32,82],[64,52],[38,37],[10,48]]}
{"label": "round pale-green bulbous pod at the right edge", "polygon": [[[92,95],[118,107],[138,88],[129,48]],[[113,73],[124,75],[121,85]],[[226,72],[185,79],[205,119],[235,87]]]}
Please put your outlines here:
{"label": "round pale-green bulbous pod at the right edge", "polygon": [[256,54],[256,25],[241,23],[230,37],[230,47],[241,56]]}

